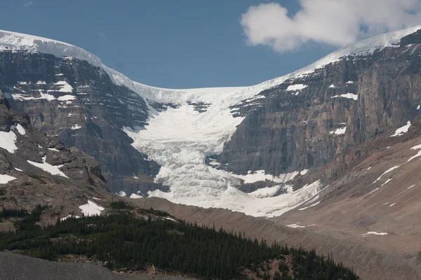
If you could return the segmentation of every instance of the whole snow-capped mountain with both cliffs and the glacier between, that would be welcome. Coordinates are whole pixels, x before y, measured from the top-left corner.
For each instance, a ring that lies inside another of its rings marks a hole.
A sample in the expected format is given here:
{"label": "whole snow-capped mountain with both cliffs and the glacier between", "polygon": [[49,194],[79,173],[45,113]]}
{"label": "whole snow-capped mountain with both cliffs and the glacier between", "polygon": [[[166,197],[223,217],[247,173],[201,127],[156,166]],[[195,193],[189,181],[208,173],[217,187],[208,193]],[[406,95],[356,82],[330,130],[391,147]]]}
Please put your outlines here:
{"label": "whole snow-capped mountain with both cliffs and the glacier between", "polygon": [[0,89],[34,127],[97,159],[114,193],[279,216],[328,186],[313,170],[417,116],[420,28],[259,85],[189,90],[0,31]]}

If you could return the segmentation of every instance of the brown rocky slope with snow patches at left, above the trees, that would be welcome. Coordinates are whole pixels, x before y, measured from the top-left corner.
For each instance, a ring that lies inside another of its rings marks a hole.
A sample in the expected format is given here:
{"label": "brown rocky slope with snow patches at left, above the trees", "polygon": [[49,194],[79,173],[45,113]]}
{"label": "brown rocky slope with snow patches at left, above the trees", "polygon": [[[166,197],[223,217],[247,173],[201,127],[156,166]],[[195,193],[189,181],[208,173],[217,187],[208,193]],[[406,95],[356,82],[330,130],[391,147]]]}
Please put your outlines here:
{"label": "brown rocky slope with snow patches at left, above the trees", "polygon": [[[48,206],[46,215],[51,216],[43,217],[43,222],[51,223],[72,212],[81,216],[79,206],[93,196],[102,197],[105,186],[95,158],[36,130],[29,116],[13,111],[0,91],[2,209]],[[8,227],[13,225],[1,223],[0,230]]]}

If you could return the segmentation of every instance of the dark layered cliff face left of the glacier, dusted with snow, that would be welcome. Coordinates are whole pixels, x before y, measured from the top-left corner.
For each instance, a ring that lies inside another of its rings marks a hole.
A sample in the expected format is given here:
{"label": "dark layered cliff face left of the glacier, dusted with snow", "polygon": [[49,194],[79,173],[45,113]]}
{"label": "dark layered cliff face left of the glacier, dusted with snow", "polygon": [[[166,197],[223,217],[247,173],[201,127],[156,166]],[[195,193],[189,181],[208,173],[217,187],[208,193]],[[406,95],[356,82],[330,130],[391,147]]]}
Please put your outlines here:
{"label": "dark layered cliff face left of the glacier, dusted with snow", "polygon": [[165,190],[153,182],[159,166],[135,150],[121,130],[145,125],[147,104],[100,67],[71,57],[4,50],[0,89],[34,127],[98,160],[110,191]]}

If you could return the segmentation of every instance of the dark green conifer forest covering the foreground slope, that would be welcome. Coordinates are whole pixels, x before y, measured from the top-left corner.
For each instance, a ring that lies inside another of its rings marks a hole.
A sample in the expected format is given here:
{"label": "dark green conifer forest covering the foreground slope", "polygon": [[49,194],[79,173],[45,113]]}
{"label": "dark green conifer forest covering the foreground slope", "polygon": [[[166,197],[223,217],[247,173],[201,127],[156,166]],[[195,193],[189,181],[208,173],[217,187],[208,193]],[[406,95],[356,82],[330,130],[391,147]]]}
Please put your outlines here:
{"label": "dark green conifer forest covering the foreground slope", "polygon": [[[126,209],[123,204],[114,207]],[[109,269],[142,270],[154,265],[166,272],[205,279],[246,279],[245,269],[271,279],[268,262],[278,260],[279,271],[272,279],[357,279],[351,269],[336,265],[331,257],[276,243],[269,246],[265,240],[222,229],[184,221],[152,221],[150,215],[145,221],[125,213],[67,218],[41,228],[35,223],[42,210],[36,207],[31,214],[8,214],[24,217],[15,223],[15,232],[0,233],[0,250],[20,250],[46,260],[65,254],[85,255],[106,263]]]}

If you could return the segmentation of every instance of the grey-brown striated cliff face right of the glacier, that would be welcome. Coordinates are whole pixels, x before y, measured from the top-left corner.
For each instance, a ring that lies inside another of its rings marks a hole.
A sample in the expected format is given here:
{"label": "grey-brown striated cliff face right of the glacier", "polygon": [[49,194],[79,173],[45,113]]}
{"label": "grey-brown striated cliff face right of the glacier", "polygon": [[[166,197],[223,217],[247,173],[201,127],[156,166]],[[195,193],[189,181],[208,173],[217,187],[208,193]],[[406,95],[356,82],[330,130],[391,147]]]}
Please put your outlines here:
{"label": "grey-brown striated cliff face right of the glacier", "polygon": [[319,167],[405,125],[420,113],[420,34],[286,80],[262,92],[253,110],[233,108],[246,118],[218,162],[237,174]]}

